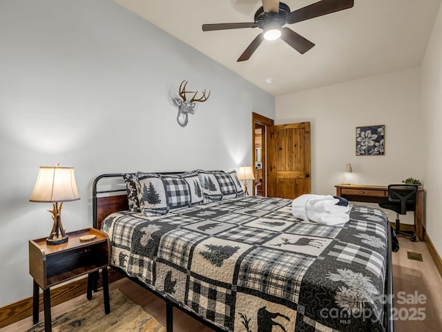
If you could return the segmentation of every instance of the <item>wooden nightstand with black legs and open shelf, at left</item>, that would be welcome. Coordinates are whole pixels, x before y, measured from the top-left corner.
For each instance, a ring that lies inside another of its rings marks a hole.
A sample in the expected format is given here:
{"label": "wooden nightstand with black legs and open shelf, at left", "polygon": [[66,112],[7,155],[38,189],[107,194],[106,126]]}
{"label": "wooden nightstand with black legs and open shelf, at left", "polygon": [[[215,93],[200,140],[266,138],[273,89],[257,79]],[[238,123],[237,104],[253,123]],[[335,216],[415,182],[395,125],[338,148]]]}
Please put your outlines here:
{"label": "wooden nightstand with black legs and open shelf, at left", "polygon": [[[55,246],[46,245],[46,238],[29,241],[29,273],[34,279],[32,299],[33,322],[39,321],[39,288],[43,289],[45,331],[52,330],[50,315],[50,287],[81,275],[88,274],[88,294],[92,297],[95,275],[102,270],[104,312],[111,311],[107,267],[110,260],[110,243],[106,233],[86,228],[67,233],[68,242]],[[80,237],[95,239],[80,241]]]}

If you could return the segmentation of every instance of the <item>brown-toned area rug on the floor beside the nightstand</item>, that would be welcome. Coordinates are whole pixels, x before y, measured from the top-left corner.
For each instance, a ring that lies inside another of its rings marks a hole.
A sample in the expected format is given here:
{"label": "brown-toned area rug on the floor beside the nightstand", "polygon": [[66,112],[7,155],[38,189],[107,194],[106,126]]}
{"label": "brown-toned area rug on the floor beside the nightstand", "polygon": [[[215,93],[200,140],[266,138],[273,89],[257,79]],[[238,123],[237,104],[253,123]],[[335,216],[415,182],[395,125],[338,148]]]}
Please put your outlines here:
{"label": "brown-toned area rug on the floor beside the nightstand", "polygon": [[[110,297],[111,313],[108,315],[104,314],[103,297],[96,297],[72,311],[52,318],[52,332],[166,331],[142,306],[133,303],[118,289],[112,291]],[[39,322],[26,332],[44,332],[44,322]]]}

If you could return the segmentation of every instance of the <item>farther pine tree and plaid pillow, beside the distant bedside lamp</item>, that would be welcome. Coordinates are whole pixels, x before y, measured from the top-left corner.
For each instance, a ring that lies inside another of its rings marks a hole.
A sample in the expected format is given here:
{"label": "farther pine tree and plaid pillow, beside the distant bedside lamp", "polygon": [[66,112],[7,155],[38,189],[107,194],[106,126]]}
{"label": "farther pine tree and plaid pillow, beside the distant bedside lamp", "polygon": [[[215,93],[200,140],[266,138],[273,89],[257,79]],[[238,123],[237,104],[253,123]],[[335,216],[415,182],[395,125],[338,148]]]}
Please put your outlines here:
{"label": "farther pine tree and plaid pillow, beside the distant bedside lamp", "polygon": [[237,196],[236,185],[229,174],[223,171],[203,171],[198,169],[198,176],[204,194],[204,203],[234,199]]}

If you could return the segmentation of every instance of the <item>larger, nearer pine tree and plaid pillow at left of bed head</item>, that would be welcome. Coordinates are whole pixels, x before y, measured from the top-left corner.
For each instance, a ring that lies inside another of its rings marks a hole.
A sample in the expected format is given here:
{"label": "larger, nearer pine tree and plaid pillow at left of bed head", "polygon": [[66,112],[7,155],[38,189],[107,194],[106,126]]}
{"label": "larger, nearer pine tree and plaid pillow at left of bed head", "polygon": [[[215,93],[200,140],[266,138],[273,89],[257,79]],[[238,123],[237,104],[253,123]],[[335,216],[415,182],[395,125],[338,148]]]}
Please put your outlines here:
{"label": "larger, nearer pine tree and plaid pillow at left of bed head", "polygon": [[140,182],[140,210],[146,216],[202,203],[202,188],[196,172],[176,175],[137,172]]}

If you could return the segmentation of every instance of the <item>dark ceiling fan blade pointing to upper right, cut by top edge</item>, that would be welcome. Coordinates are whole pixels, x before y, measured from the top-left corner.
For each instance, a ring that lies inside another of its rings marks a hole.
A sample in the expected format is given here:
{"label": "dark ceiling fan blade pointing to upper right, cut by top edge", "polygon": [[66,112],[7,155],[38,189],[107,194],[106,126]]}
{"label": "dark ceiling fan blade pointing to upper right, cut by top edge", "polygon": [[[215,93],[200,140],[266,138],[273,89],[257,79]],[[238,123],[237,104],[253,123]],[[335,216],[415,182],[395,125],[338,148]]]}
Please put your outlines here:
{"label": "dark ceiling fan blade pointing to upper right, cut by top edge", "polygon": [[332,12],[338,12],[352,8],[354,0],[323,0],[316,3],[312,3],[309,6],[294,10],[289,14],[285,22],[287,24],[293,24],[306,19],[313,19],[314,17],[331,14]]}

